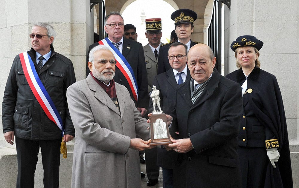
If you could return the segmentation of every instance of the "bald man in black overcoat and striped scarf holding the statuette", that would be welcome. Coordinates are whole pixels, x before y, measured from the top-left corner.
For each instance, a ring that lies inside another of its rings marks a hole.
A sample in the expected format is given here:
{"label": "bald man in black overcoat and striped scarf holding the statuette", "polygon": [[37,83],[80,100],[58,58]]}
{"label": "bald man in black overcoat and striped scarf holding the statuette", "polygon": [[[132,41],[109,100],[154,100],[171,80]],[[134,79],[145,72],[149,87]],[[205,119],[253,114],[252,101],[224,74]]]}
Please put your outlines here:
{"label": "bald man in black overcoat and striped scarf holding the statuette", "polygon": [[214,69],[216,58],[205,44],[188,52],[191,79],[178,86],[167,150],[179,153],[175,187],[241,187],[237,153],[242,91]]}

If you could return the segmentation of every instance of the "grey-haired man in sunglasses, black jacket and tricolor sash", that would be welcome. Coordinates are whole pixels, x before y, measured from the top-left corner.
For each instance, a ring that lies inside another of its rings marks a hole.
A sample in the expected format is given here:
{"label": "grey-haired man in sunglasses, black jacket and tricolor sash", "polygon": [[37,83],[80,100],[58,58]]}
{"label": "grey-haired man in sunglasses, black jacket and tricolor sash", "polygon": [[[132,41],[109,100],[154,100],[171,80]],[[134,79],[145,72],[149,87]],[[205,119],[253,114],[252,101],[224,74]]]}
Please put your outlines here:
{"label": "grey-haired man in sunglasses, black jacket and tricolor sash", "polygon": [[75,136],[66,101],[66,89],[76,82],[74,67],[54,51],[51,25],[33,24],[29,37],[32,48],[15,57],[4,90],[4,138],[16,141],[16,187],[34,187],[39,148],[44,187],[59,187],[60,144]]}

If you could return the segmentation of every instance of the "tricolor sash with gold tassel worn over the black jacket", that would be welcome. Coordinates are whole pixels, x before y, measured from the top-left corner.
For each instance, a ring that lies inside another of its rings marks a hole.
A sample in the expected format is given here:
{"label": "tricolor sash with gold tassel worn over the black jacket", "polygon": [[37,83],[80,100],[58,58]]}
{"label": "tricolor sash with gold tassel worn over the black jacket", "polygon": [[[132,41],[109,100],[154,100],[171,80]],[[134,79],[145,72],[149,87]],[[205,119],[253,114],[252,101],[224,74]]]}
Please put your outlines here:
{"label": "tricolor sash with gold tassel worn over the black jacket", "polygon": [[42,81],[40,81],[39,76],[35,70],[34,63],[27,52],[20,53],[20,60],[22,68],[25,74],[25,78],[30,86],[30,89],[39,102],[40,106],[48,116],[48,118],[53,121],[60,130],[62,130],[62,135],[64,133],[64,128],[62,125],[62,119],[56,109],[50,95],[45,89]]}

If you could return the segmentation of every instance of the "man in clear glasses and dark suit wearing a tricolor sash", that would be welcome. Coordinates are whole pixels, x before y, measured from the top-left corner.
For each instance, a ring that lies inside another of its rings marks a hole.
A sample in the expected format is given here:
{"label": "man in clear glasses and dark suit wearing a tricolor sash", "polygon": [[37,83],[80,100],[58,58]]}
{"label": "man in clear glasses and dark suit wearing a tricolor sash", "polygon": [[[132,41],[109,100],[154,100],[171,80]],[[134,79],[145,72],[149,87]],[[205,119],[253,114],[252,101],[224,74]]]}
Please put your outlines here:
{"label": "man in clear glasses and dark suit wearing a tricolor sash", "polygon": [[128,89],[135,106],[144,116],[149,98],[142,44],[123,38],[124,21],[119,12],[110,12],[106,17],[105,31],[108,37],[92,44],[89,51],[99,44],[106,45],[113,50],[115,58],[123,60],[115,67],[114,80]]}

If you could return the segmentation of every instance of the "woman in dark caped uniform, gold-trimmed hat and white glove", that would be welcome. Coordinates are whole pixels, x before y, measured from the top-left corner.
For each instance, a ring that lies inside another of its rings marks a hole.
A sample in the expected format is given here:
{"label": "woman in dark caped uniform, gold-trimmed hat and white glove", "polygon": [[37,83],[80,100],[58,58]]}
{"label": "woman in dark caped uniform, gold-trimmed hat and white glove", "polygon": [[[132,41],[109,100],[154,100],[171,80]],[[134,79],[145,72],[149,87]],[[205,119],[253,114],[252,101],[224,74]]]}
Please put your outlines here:
{"label": "woman in dark caped uniform, gold-trimmed hat and white glove", "polygon": [[231,44],[238,70],[226,77],[239,83],[243,114],[238,136],[243,187],[293,187],[283,101],[276,77],[260,69],[263,42],[239,36]]}

